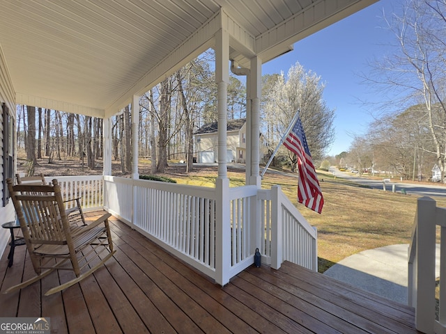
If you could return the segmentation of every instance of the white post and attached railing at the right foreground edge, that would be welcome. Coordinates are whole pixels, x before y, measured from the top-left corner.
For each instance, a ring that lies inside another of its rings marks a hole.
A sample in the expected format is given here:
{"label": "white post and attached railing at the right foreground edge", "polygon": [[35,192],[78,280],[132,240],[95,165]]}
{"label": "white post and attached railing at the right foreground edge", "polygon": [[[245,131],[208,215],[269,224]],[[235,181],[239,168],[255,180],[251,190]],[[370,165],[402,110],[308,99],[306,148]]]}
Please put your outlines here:
{"label": "white post and attached railing at the right foreground edge", "polygon": [[[436,226],[440,226],[440,303],[436,319]],[[408,250],[408,304],[422,333],[446,333],[446,208],[429,197],[417,199]],[[443,289],[442,289],[443,287]]]}

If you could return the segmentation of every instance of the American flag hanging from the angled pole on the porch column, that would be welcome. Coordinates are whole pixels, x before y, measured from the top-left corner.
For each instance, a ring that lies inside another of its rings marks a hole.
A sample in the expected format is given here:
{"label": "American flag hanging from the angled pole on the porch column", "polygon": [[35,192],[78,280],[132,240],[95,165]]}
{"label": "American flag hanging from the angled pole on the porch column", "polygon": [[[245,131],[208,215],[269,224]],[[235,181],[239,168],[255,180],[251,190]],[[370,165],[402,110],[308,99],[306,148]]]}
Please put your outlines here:
{"label": "American flag hanging from the angled pole on the porch column", "polygon": [[312,154],[309,152],[307,138],[305,137],[299,116],[286,136],[284,145],[298,157],[298,201],[320,214],[323,207],[321,186],[319,186],[316,170],[314,170],[313,166]]}

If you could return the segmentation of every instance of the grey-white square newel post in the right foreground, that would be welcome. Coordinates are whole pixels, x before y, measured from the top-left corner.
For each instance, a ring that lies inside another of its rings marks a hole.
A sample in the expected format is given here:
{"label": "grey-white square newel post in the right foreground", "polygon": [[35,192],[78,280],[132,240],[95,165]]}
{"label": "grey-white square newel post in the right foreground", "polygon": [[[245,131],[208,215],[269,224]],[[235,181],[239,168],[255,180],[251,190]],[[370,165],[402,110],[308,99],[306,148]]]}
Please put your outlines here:
{"label": "grey-white square newel post in the right foreground", "polygon": [[413,278],[415,327],[422,333],[434,333],[436,201],[429,197],[417,200],[416,262]]}

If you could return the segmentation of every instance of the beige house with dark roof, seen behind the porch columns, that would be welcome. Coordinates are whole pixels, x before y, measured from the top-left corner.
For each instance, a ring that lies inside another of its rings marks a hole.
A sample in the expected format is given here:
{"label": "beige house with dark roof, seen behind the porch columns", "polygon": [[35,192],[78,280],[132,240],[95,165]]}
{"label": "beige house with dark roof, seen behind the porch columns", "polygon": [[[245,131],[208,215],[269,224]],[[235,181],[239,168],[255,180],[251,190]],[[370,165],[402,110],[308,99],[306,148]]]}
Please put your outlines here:
{"label": "beige house with dark roof, seen behind the porch columns", "polygon": [[[197,162],[213,163],[218,161],[218,122],[207,123],[194,133],[194,157]],[[246,118],[227,120],[226,123],[226,162],[246,162]],[[260,143],[260,160],[266,150]]]}

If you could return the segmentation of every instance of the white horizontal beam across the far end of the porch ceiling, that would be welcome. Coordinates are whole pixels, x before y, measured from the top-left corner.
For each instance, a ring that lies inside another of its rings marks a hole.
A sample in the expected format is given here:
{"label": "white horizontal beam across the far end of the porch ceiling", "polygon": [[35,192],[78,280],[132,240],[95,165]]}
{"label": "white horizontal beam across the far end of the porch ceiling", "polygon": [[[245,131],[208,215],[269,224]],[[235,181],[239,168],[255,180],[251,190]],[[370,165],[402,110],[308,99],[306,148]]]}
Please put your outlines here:
{"label": "white horizontal beam across the far end of the porch ceiling", "polygon": [[103,109],[91,108],[89,106],[80,106],[63,101],[50,100],[45,97],[38,97],[17,93],[15,95],[15,103],[26,104],[26,106],[40,106],[40,108],[66,111],[68,113],[80,113],[82,115],[104,118],[105,111]]}

